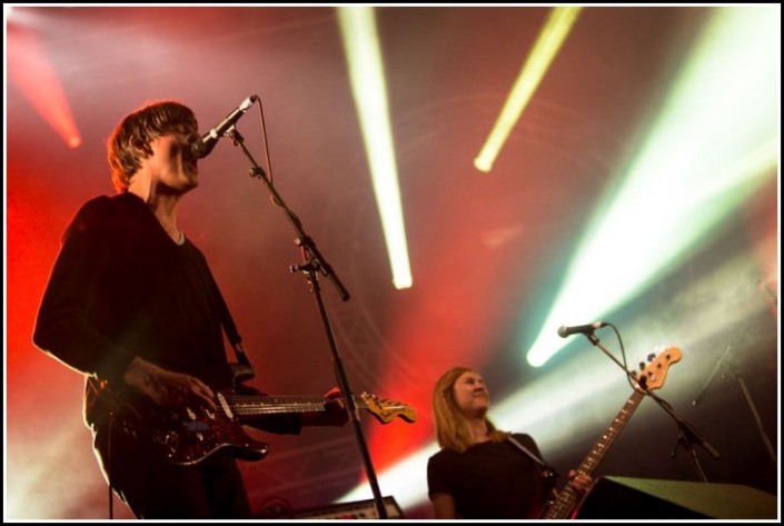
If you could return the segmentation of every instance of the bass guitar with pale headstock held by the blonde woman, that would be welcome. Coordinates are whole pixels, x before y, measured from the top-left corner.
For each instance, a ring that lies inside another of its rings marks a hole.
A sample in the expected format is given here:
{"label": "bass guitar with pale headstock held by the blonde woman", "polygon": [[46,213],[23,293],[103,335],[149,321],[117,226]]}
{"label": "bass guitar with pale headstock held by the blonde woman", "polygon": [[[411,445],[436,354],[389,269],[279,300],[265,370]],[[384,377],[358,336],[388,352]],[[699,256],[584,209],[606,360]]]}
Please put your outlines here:
{"label": "bass guitar with pale headstock held by the blonde woman", "polygon": [[[645,391],[639,384],[643,383],[649,390],[658,389],[664,385],[664,379],[667,376],[667,370],[672,364],[681,359],[681,349],[677,347],[665,347],[658,356],[651,355],[649,361],[645,369],[641,373],[641,380],[635,385],[635,390],[632,397],[626,400],[621,413],[615,417],[613,424],[604,431],[602,437],[596,441],[594,447],[588,453],[588,456],[583,459],[583,463],[575,469],[578,474],[591,475],[602,458],[605,456],[613,441],[621,435],[624,426],[632,418],[639,403],[645,396]],[[560,492],[558,497],[545,509],[543,518],[566,519],[572,516],[578,503],[577,492],[572,486],[566,486]]]}

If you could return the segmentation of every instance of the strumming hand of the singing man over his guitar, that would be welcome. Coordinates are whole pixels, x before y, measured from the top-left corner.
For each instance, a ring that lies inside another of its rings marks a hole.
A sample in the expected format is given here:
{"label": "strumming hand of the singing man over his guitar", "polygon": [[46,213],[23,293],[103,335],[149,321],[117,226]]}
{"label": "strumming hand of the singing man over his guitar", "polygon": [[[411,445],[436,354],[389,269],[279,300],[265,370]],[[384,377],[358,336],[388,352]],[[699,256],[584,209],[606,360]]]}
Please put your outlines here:
{"label": "strumming hand of the singing man over his guitar", "polygon": [[165,407],[185,407],[197,400],[216,410],[212,390],[198,378],[158,367],[139,357],[133,358],[122,377],[126,384]]}

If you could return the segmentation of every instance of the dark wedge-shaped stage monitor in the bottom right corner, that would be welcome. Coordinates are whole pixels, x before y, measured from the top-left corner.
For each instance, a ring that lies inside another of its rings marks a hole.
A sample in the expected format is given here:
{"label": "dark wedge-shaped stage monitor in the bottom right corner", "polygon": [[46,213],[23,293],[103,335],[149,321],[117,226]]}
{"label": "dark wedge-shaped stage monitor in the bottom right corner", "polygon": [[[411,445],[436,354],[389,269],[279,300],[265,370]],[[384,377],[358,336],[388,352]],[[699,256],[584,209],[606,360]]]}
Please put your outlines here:
{"label": "dark wedge-shaped stage monitor in the bottom right corner", "polygon": [[602,477],[585,497],[576,518],[777,518],[774,495],[735,484]]}

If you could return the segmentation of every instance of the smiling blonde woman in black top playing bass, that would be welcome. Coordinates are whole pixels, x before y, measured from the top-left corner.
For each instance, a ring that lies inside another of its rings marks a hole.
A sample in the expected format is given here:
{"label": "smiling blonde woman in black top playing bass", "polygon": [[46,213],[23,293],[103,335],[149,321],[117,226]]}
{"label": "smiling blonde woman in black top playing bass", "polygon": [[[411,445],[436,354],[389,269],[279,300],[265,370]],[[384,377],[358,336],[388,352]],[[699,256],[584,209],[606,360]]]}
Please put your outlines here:
{"label": "smiling blonde woman in black top playing bass", "polygon": [[[436,518],[539,518],[555,496],[557,474],[529,435],[499,430],[487,417],[490,396],[484,378],[468,367],[447,370],[433,390],[441,449],[427,464]],[[576,475],[580,493],[592,480]]]}

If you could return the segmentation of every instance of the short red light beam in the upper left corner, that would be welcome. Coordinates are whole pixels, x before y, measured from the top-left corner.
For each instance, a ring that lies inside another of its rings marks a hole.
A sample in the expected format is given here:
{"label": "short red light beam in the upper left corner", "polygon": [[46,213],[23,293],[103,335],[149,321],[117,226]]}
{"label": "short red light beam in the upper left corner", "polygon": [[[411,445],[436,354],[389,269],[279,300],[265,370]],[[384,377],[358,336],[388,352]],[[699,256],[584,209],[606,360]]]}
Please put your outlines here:
{"label": "short red light beam in the upper left corner", "polygon": [[62,89],[62,82],[47,57],[46,49],[30,30],[10,24],[8,76],[24,99],[36,108],[38,115],[60,136],[70,148],[81,146],[71,108]]}

